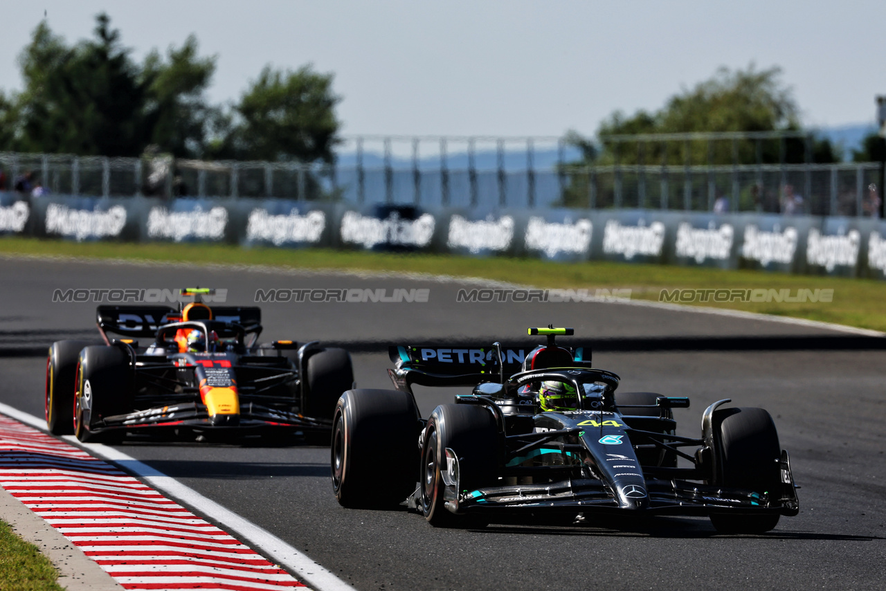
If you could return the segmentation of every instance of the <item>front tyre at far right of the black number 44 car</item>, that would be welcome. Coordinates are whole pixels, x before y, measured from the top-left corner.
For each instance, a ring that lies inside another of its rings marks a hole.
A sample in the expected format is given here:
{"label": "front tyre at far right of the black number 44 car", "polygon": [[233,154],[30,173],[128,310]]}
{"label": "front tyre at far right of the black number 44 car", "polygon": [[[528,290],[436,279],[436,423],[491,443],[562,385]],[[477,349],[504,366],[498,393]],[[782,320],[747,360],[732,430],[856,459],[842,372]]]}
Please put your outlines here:
{"label": "front tyre at far right of the black number 44 car", "polygon": [[[719,439],[720,462],[714,484],[776,494],[781,488],[781,447],[772,416],[763,408],[722,408],[714,411],[713,429]],[[722,533],[764,533],[778,524],[779,515],[711,514]]]}

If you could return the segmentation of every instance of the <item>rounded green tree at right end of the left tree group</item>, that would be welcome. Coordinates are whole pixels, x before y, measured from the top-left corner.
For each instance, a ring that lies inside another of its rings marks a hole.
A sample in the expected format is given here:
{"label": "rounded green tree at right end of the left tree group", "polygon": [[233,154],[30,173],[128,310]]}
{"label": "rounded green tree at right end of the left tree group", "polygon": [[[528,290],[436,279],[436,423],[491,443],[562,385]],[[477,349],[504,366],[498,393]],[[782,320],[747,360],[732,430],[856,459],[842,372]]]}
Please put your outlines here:
{"label": "rounded green tree at right end of the left tree group", "polygon": [[295,72],[265,66],[234,107],[229,135],[214,146],[219,157],[332,162],[339,122],[332,74],[311,66]]}

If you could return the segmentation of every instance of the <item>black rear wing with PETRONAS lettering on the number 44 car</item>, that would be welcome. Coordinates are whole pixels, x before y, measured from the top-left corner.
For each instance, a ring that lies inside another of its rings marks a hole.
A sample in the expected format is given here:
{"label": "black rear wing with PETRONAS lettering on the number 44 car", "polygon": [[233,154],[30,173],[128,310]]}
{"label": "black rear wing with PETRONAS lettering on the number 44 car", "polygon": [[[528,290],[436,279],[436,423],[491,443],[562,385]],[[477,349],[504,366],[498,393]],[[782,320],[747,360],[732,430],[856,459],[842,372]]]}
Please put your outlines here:
{"label": "black rear wing with PETRONAS lettering on the number 44 car", "polygon": [[[478,385],[498,382],[523,370],[526,355],[538,344],[501,346],[503,368],[499,368],[498,346],[416,345],[389,346],[388,356],[395,369],[388,374],[398,389],[409,385]],[[576,367],[583,367],[585,347],[570,348]]]}

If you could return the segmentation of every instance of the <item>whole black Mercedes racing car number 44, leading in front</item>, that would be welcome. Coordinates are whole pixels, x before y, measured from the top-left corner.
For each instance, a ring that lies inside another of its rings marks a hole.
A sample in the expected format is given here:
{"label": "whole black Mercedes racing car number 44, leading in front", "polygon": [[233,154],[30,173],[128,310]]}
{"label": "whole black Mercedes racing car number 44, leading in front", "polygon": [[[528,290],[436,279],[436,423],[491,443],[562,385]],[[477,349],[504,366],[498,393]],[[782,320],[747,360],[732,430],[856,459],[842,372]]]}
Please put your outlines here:
{"label": "whole black Mercedes racing car number 44, leading in front", "polygon": [[[678,436],[672,408],[688,408],[687,398],[617,393],[619,377],[595,369],[585,347],[556,345],[572,333],[530,329],[548,343],[529,354],[498,343],[390,347],[396,390],[338,400],[338,502],[406,499],[440,526],[598,512],[709,516],[721,532],[762,533],[797,515],[788,453],[766,410],[719,400],[704,411],[701,438]],[[423,419],[413,385],[473,390]]]}

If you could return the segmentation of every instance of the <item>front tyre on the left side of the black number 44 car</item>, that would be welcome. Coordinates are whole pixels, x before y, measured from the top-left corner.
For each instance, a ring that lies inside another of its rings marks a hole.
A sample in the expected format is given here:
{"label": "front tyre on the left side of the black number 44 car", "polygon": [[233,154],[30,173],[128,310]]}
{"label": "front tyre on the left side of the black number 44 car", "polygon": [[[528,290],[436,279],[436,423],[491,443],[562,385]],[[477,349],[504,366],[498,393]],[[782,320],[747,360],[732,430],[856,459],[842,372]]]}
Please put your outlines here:
{"label": "front tyre on the left side of the black number 44 car", "polygon": [[468,404],[441,404],[435,408],[424,429],[419,471],[422,513],[431,525],[482,525],[445,507],[446,483],[440,470],[446,470],[447,447],[459,458],[457,493],[493,484],[498,476],[499,433],[492,412]]}

